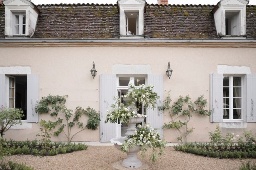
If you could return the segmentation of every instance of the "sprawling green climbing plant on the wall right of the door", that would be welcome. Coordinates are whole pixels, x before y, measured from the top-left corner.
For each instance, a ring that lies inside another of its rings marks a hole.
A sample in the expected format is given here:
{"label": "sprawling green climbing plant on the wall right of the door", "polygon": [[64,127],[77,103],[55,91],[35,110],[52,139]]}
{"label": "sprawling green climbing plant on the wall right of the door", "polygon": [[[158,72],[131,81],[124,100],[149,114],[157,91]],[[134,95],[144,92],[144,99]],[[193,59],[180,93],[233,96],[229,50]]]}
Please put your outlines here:
{"label": "sprawling green climbing plant on the wall right of the door", "polygon": [[[180,135],[177,137],[177,141],[181,141],[183,137],[186,138],[187,135],[193,132],[193,127],[188,127],[188,123],[190,118],[192,117],[192,113],[198,113],[199,115],[211,115],[212,111],[208,111],[206,108],[207,100],[204,99],[204,96],[201,95],[198,99],[193,103],[189,95],[186,97],[179,96],[178,100],[171,105],[172,99],[170,97],[170,92],[167,93],[167,97],[164,100],[163,107],[158,107],[159,110],[167,110],[171,117],[171,121],[168,124],[164,124],[163,128],[172,129],[175,128],[178,130]],[[186,121],[180,121],[179,118],[181,116],[187,117]],[[185,127],[182,130],[182,127]]]}

